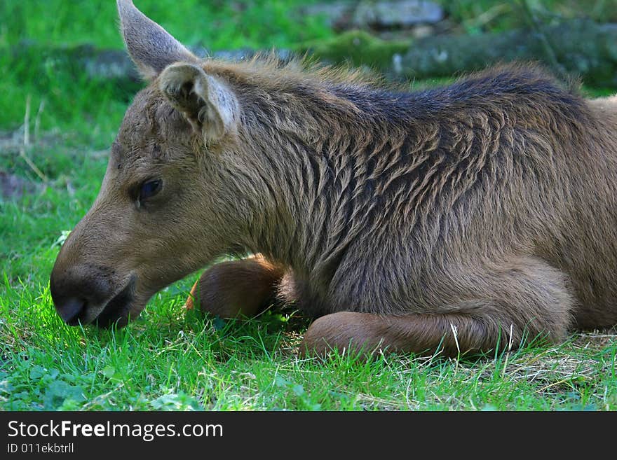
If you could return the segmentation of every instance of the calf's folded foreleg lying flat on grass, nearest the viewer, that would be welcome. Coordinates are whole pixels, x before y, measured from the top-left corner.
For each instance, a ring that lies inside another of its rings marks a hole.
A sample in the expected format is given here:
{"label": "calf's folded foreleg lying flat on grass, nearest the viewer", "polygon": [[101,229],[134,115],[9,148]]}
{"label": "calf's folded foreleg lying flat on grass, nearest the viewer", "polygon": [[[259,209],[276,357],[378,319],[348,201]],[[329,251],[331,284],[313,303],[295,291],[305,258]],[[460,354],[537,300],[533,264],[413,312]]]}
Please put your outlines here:
{"label": "calf's folded foreleg lying flat on grass, nearest the viewer", "polygon": [[444,291],[449,301],[426,309],[430,313],[321,316],[306,331],[301,352],[381,349],[459,356],[516,348],[536,337],[562,340],[571,323],[574,300],[566,277],[536,258],[517,258],[491,272],[455,278]]}

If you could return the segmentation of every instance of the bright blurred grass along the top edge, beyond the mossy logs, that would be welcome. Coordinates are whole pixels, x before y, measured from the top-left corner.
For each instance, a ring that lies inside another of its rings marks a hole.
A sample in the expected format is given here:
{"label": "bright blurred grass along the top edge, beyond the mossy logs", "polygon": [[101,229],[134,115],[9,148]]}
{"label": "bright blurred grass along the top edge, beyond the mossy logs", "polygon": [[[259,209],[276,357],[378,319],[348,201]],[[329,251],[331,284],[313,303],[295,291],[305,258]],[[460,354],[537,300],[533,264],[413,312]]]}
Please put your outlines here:
{"label": "bright blurred grass along the top edge, beyond the mossy logs", "polygon": [[[188,46],[210,50],[287,47],[332,34],[323,18],[302,15],[299,6],[316,0],[135,0],[135,5]],[[5,0],[0,16],[0,46],[20,41],[45,45],[93,43],[122,48],[116,2]]]}

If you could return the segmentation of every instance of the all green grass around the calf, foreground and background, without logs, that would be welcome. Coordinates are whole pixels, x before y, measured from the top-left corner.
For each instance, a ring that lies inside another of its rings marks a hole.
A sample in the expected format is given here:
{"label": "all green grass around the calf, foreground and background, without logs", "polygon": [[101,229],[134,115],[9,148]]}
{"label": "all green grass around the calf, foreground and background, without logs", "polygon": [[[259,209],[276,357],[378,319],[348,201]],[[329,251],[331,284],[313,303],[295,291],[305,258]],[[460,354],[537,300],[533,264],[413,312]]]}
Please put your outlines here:
{"label": "all green grass around the calf, foreground and background, without logs", "polygon": [[[202,39],[212,49],[287,47],[332,34],[317,20],[298,25],[286,13],[292,1],[136,3],[185,43]],[[113,1],[75,5],[3,1],[0,17],[11,21],[0,26],[0,49],[22,40],[121,47]],[[472,3],[454,6],[463,19],[477,16]],[[0,197],[0,409],[617,409],[617,341],[609,333],[575,334],[559,347],[530,346],[477,361],[300,359],[297,344],[308,323],[298,312],[267,312],[246,322],[186,312],[197,274],[155,295],[127,328],[66,326],[48,288],[59,239],[93,202],[107,148],[138,87],[72,75],[34,51],[0,53],[0,69],[0,172],[36,184],[16,200]],[[435,83],[447,81],[412,88]],[[19,155],[28,99],[25,152],[46,181]]]}

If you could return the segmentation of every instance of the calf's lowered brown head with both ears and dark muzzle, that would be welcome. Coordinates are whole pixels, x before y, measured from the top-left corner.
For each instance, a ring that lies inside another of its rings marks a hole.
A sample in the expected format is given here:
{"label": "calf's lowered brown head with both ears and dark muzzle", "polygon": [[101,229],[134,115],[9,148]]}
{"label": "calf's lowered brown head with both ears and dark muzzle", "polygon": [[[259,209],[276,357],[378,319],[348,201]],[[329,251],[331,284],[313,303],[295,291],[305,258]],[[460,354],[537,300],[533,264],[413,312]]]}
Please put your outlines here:
{"label": "calf's lowered brown head with both ears and dark muzzle", "polygon": [[130,0],[118,0],[118,12],[149,85],[126,112],[100,193],[53,267],[53,302],[71,325],[123,326],[156,291],[224,249],[229,232],[217,209],[226,206],[220,168],[236,148],[236,95]]}

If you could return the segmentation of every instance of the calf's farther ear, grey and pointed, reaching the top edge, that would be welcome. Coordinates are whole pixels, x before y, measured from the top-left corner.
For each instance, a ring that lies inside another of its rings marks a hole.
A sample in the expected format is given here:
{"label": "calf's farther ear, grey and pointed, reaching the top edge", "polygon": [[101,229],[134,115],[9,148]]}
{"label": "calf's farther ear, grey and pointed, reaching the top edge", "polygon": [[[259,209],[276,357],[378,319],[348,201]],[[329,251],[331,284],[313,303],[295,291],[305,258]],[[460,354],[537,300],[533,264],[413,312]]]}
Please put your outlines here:
{"label": "calf's farther ear, grey and pointed, reaching the top edge", "polygon": [[126,49],[146,80],[172,62],[198,62],[197,57],[163,27],[135,8],[131,0],[117,0],[120,27]]}

